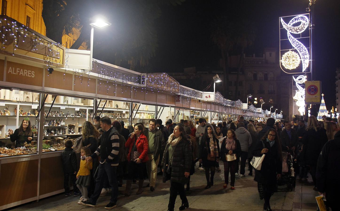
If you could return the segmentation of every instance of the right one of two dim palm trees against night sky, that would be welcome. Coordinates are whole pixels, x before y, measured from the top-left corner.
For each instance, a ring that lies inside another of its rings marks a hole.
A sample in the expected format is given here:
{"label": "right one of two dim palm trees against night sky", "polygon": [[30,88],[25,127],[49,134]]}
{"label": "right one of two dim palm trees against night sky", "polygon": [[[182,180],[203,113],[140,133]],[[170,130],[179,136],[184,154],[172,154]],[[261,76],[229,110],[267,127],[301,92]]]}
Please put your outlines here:
{"label": "right one of two dim palm trees against night sky", "polygon": [[255,40],[255,29],[253,27],[254,24],[252,24],[248,20],[241,20],[239,23],[236,23],[236,44],[237,47],[241,53],[240,60],[238,63],[238,69],[237,69],[237,76],[236,76],[236,88],[235,88],[235,97],[236,100],[238,98],[237,92],[238,92],[238,83],[240,80],[240,72],[241,67],[243,64],[243,57],[244,57],[244,50],[251,46],[253,44],[253,41]]}

